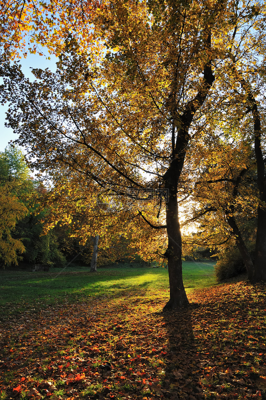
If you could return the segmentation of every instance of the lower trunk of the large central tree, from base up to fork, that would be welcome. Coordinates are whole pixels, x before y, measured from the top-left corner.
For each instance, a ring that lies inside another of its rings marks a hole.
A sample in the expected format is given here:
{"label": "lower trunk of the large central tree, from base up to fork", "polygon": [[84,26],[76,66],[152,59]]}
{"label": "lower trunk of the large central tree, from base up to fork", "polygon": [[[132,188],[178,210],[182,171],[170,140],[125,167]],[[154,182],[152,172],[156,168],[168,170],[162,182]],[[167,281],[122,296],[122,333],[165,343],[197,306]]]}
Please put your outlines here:
{"label": "lower trunk of the large central tree, from base up to fork", "polygon": [[169,195],[166,208],[166,225],[168,248],[165,256],[168,258],[168,273],[170,285],[170,300],[163,310],[180,308],[188,304],[182,277],[182,244],[178,217],[176,194]]}

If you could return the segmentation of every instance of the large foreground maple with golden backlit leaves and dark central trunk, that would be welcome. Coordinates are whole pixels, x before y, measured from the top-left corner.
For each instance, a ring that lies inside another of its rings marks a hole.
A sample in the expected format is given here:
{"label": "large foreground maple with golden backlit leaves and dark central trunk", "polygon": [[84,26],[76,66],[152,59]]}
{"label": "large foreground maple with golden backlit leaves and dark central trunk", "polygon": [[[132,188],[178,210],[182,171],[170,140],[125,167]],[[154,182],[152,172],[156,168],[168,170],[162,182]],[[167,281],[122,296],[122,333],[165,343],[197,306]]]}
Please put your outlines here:
{"label": "large foreground maple with golden backlit leaves and dark central trunk", "polygon": [[92,45],[85,52],[84,38],[80,46],[69,35],[56,74],[35,70],[30,83],[17,66],[2,68],[2,94],[12,104],[9,125],[39,170],[67,164],[78,180],[93,179],[99,190],[120,196],[147,189],[167,193],[165,208],[159,201],[156,210],[157,224],[143,205],[138,210],[150,226],[167,230],[166,308],[187,303],[179,179],[214,84],[213,60],[219,68],[235,20],[253,18],[252,4],[242,4],[236,14],[239,7],[212,1],[102,3],[93,14]]}

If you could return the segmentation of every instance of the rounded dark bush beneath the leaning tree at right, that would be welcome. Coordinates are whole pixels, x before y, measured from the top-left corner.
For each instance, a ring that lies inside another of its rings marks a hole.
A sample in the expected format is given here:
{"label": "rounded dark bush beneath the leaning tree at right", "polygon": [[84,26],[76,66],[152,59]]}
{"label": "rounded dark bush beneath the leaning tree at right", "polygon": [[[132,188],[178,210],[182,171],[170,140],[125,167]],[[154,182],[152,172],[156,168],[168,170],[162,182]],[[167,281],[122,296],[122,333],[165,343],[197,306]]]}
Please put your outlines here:
{"label": "rounded dark bush beneath the leaning tree at right", "polygon": [[244,261],[236,247],[228,248],[220,253],[214,269],[218,282],[246,272]]}

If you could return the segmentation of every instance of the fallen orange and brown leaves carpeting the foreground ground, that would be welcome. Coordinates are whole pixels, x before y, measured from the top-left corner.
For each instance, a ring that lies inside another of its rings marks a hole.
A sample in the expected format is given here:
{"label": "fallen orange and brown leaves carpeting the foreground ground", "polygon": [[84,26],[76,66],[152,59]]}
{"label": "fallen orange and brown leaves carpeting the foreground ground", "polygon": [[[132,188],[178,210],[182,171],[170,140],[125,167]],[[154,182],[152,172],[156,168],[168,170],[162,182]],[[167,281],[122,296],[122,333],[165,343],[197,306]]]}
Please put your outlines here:
{"label": "fallen orange and brown leaves carpeting the foreground ground", "polygon": [[[265,286],[120,292],[4,320],[2,399],[266,399]],[[32,307],[32,306],[31,306]]]}

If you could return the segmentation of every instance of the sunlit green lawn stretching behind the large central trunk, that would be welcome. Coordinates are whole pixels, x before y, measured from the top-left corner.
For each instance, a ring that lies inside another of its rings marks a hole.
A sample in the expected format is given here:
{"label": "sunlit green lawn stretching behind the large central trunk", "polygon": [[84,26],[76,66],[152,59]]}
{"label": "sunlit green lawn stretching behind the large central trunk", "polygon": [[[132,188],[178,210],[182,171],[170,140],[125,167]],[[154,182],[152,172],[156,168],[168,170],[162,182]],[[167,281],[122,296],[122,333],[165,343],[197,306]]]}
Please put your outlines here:
{"label": "sunlit green lawn stretching behind the large central trunk", "polygon": [[[214,262],[183,262],[183,281],[189,293],[213,286]],[[86,301],[91,296],[120,296],[122,292],[169,290],[165,268],[101,268],[91,274],[86,267],[51,268],[50,272],[0,271],[2,314],[38,309],[47,304]]]}

